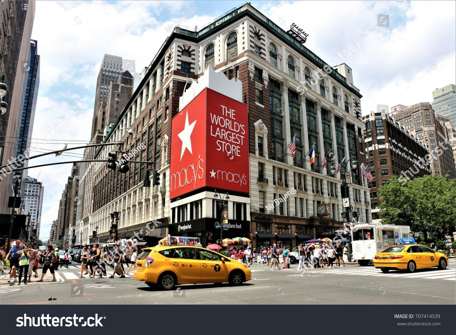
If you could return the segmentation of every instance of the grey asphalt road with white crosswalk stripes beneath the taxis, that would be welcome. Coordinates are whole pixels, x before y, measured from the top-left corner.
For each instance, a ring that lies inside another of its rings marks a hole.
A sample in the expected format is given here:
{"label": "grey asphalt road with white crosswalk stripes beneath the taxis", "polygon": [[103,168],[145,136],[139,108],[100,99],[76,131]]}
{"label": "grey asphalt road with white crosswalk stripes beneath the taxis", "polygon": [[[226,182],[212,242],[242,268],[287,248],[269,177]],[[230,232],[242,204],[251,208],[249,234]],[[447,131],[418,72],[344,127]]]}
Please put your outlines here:
{"label": "grey asphalt road with white crosswalk stripes beneath the taxis", "polygon": [[[174,291],[149,288],[127,278],[77,278],[77,267],[57,271],[59,282],[17,286],[0,283],[0,304],[456,304],[456,261],[436,268],[383,274],[374,267],[297,272],[253,265],[252,280],[228,284],[181,285]],[[41,271],[39,271],[41,273]],[[56,298],[49,301],[48,298]]]}

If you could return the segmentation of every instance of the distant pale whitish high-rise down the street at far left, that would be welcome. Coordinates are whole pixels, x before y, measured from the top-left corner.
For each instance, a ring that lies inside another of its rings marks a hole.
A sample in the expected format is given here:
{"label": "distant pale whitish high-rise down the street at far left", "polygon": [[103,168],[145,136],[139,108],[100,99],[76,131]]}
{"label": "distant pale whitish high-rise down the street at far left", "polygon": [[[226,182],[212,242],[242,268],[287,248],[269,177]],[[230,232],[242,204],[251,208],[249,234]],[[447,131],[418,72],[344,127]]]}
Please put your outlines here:
{"label": "distant pale whitish high-rise down the street at far left", "polygon": [[32,226],[35,226],[36,236],[40,236],[44,186],[36,178],[30,176],[27,176],[26,180],[22,183],[25,189],[22,194],[21,207],[24,209],[25,215],[30,215],[30,223]]}

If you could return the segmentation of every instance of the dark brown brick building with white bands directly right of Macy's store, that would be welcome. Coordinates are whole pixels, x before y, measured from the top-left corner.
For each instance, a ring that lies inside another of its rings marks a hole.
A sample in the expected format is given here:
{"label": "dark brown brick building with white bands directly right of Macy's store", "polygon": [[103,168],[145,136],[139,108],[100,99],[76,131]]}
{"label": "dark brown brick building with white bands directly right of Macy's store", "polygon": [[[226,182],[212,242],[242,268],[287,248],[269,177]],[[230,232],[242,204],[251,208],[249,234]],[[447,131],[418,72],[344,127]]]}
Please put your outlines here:
{"label": "dark brown brick building with white bands directly right of Macy's store", "polygon": [[[398,106],[393,108],[400,112]],[[421,161],[428,154],[423,140],[415,138],[409,130],[389,116],[388,111],[371,111],[363,116],[363,121],[367,166],[373,177],[369,186],[372,219],[375,221],[379,220],[381,205],[378,189],[388,184],[391,176],[402,176],[403,180],[407,180],[406,178],[431,174],[431,168]]]}

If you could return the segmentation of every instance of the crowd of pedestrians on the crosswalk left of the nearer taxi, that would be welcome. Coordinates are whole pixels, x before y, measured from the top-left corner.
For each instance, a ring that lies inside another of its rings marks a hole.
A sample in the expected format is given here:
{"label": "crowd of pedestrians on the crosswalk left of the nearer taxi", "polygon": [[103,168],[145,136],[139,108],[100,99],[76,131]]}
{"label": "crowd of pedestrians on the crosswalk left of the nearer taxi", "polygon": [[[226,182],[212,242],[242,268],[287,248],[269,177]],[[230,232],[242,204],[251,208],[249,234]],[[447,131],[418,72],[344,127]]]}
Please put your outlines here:
{"label": "crowd of pedestrians on the crosswalk left of the nearer taxi", "polygon": [[[34,277],[39,277],[38,269],[41,268],[41,278],[37,280],[42,282],[44,276],[49,271],[52,274],[51,282],[57,282],[55,271],[58,270],[59,263],[61,267],[71,261],[71,255],[67,250],[63,253],[63,259],[59,258],[58,249],[54,249],[52,245],[48,245],[45,251],[41,254],[35,249],[34,245],[23,245],[21,241],[16,241],[10,248],[10,251],[5,257],[10,262],[10,272],[8,283],[14,283],[18,277],[18,285],[21,285],[22,278],[24,285],[31,281],[32,274]],[[79,278],[88,274],[89,278],[95,276],[107,277],[107,268],[113,270],[109,278],[114,278],[117,273],[120,278],[124,278],[129,274],[131,269],[135,268],[135,262],[138,258],[138,251],[132,245],[131,241],[126,241],[125,244],[116,243],[112,249],[100,248],[98,243],[93,246],[83,247],[81,251],[81,275]],[[250,259],[251,261],[251,259]],[[124,264],[127,264],[127,270],[124,270]]]}

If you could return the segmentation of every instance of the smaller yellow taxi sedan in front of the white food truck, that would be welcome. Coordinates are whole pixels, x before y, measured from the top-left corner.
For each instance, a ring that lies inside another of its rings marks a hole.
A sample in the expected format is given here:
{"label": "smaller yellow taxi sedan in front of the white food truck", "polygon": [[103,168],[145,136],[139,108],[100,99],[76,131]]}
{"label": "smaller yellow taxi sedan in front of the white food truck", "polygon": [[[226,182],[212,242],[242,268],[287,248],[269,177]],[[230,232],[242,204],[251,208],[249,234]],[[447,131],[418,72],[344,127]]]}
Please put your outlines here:
{"label": "smaller yellow taxi sedan in front of the white food truck", "polygon": [[389,270],[415,272],[417,269],[428,267],[438,267],[440,270],[445,270],[448,266],[448,257],[420,244],[399,244],[390,246],[376,254],[373,265],[381,269],[383,273],[387,273]]}

